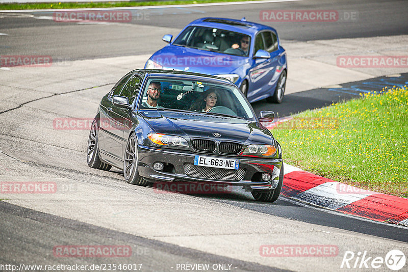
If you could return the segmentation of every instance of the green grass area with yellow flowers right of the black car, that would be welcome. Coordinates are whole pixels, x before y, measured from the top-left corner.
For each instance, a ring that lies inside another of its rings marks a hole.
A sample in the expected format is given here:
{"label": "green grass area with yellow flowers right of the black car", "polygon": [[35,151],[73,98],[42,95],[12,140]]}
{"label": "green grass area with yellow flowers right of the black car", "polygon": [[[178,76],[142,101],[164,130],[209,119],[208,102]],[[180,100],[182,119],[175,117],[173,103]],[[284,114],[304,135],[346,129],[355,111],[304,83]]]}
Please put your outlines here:
{"label": "green grass area with yellow flowers right of the black car", "polygon": [[408,197],[408,89],[303,112],[272,129],[284,160],[359,188]]}

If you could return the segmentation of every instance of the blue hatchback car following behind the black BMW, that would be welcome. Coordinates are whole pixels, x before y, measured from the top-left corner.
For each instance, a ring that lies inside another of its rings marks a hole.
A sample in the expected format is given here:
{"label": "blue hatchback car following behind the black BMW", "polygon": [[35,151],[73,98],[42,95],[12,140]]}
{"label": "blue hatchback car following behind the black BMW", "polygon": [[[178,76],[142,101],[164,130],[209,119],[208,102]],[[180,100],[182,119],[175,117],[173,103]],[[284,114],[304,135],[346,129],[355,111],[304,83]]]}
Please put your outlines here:
{"label": "blue hatchback car following behind the black BMW", "polygon": [[249,102],[282,102],[288,67],[275,29],[245,18],[201,18],[172,38],[164,35],[169,44],[145,68],[215,75],[235,83]]}

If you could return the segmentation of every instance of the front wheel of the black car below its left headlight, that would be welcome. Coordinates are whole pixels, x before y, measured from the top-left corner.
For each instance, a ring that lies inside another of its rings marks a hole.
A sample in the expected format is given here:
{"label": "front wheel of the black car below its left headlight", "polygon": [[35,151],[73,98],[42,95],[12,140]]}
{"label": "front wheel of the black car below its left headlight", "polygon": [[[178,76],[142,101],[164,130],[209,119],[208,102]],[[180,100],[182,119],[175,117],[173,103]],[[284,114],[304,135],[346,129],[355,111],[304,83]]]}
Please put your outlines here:
{"label": "front wheel of the black car below its left headlight", "polygon": [[123,155],[123,176],[127,183],[146,186],[148,182],[139,175],[139,154],[137,151],[137,139],[133,133],[127,140]]}

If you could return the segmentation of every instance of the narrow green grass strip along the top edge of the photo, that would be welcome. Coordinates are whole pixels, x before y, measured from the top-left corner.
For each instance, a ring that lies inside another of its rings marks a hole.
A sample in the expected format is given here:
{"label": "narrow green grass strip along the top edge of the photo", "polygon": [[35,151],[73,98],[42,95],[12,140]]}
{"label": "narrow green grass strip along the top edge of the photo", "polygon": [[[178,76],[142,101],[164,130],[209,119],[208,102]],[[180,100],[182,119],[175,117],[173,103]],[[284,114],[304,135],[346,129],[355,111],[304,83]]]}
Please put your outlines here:
{"label": "narrow green grass strip along the top edge of the photo", "polygon": [[33,10],[33,9],[84,9],[84,8],[118,8],[162,5],[185,5],[222,2],[250,2],[253,0],[174,0],[174,1],[137,1],[137,2],[88,2],[88,3],[32,3],[2,4],[0,10]]}

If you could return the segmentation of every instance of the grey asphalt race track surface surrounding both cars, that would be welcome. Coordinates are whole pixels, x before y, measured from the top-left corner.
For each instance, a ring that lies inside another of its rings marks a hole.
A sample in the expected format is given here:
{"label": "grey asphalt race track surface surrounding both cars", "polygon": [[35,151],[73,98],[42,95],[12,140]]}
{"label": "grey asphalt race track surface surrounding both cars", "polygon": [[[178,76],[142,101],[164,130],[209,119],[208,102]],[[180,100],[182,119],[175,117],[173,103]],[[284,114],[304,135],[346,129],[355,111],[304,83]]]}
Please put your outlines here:
{"label": "grey asphalt race track surface surrounding both cars", "polygon": [[[132,270],[141,271],[206,270],[198,264],[210,264],[210,271],[354,271],[359,268],[341,268],[346,252],[385,258],[397,249],[408,256],[406,227],[363,220],[285,197],[272,204],[254,202],[250,193],[239,189],[230,194],[184,195],[127,184],[117,169],[106,172],[87,166],[87,128],[56,129],[57,118],[93,118],[100,97],[127,71],[142,68],[148,55],[164,46],[164,34],[175,35],[188,22],[204,16],[245,16],[260,21],[260,11],[270,9],[358,14],[356,20],[334,23],[265,22],[277,29],[289,56],[302,53],[303,49],[296,47],[318,46],[322,40],[336,43],[340,38],[371,43],[371,39],[382,39],[377,36],[390,40],[395,36],[395,51],[407,49],[406,38],[400,36],[408,33],[404,1],[135,9],[131,23],[105,24],[55,22],[52,12],[0,12],[0,33],[7,34],[0,35],[0,55],[49,55],[56,64],[0,69],[0,181],[46,181],[61,188],[55,194],[0,193],[0,271],[12,270],[1,266],[5,264],[16,265],[15,270],[20,271],[45,271],[24,268],[34,264],[88,265],[84,270],[93,271],[103,270],[93,269],[95,265],[113,263],[134,264]],[[394,55],[392,52],[389,54]],[[293,66],[289,61],[288,77],[296,79],[302,69],[297,63],[308,60],[296,59]],[[296,86],[309,84],[302,79],[301,84],[292,83],[282,104],[259,101],[252,106],[257,112],[273,106],[272,110],[284,117],[357,97],[364,86],[380,90],[378,83],[404,85],[407,72],[406,68],[356,70],[350,77],[332,79],[341,86],[311,83],[299,91]],[[319,74],[312,77],[319,78]],[[308,79],[313,81],[310,75]],[[261,248],[268,244],[331,245],[338,252],[324,257],[265,257]],[[56,248],[66,245],[124,246],[130,247],[132,254],[59,257]],[[351,266],[354,261],[357,263],[354,258]],[[375,270],[389,269],[383,263]]]}

